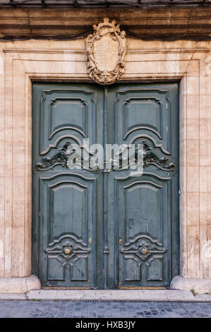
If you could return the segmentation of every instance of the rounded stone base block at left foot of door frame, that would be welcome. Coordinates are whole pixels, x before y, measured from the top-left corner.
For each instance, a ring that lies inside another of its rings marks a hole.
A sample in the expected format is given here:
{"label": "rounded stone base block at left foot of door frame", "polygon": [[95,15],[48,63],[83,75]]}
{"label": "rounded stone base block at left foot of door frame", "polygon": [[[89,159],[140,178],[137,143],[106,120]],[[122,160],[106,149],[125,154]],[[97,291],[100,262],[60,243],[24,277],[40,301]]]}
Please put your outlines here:
{"label": "rounded stone base block at left foot of door frame", "polygon": [[40,280],[36,275],[25,278],[0,278],[0,293],[27,293],[30,290],[40,290]]}

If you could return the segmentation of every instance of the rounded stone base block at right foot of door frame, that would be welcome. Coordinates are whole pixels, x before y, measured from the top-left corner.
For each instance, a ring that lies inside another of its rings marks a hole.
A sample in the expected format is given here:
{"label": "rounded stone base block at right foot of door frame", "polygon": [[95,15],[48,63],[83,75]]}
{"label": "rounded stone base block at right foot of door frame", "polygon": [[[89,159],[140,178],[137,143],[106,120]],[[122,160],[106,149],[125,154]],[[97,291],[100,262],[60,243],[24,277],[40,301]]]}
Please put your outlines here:
{"label": "rounded stone base block at right foot of door frame", "polygon": [[199,294],[211,292],[211,279],[182,278],[176,275],[171,280],[171,289],[174,290],[195,290]]}

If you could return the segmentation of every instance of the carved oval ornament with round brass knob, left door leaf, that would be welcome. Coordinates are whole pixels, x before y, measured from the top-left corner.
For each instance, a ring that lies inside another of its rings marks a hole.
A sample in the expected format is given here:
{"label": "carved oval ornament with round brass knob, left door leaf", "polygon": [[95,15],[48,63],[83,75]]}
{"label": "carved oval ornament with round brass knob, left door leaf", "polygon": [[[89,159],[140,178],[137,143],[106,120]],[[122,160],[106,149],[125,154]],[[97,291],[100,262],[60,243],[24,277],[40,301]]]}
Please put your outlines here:
{"label": "carved oval ornament with round brass knob, left door leaf", "polygon": [[64,235],[59,239],[54,239],[44,250],[49,256],[55,256],[61,263],[72,264],[80,258],[87,258],[91,249],[82,239],[73,235]]}

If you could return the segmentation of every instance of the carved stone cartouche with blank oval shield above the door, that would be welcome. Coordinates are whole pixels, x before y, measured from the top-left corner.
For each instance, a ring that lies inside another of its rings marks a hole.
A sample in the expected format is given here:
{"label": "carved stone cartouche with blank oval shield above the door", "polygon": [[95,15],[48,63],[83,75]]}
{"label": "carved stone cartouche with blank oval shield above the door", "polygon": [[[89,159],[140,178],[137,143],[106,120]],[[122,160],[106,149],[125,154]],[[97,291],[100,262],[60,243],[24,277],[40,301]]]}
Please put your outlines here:
{"label": "carved stone cartouche with blank oval shield above the door", "polygon": [[93,28],[93,34],[86,39],[88,73],[97,83],[112,84],[124,71],[126,32],[109,18]]}

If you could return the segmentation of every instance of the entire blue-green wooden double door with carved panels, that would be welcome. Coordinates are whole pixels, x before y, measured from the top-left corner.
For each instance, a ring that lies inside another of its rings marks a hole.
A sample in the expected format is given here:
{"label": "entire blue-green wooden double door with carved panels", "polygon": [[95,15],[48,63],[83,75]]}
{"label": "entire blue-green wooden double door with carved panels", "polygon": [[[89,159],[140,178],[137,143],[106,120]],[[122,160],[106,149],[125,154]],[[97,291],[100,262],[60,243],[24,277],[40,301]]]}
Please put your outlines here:
{"label": "entire blue-green wooden double door with carved panels", "polygon": [[[85,138],[142,144],[143,174],[70,169]],[[32,85],[32,273],[45,287],[101,289],[179,274],[178,83]]]}

